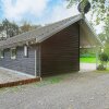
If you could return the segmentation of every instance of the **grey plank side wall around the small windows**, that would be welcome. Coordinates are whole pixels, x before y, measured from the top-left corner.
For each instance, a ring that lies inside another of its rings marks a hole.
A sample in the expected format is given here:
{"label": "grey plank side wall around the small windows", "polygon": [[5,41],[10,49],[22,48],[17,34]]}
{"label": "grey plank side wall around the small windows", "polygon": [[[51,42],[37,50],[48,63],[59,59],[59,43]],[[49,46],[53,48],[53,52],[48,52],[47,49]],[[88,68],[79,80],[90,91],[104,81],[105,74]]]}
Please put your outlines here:
{"label": "grey plank side wall around the small windows", "polygon": [[24,47],[16,48],[16,59],[11,59],[10,49],[4,50],[0,66],[35,75],[35,47],[28,47],[28,57],[24,57]]}

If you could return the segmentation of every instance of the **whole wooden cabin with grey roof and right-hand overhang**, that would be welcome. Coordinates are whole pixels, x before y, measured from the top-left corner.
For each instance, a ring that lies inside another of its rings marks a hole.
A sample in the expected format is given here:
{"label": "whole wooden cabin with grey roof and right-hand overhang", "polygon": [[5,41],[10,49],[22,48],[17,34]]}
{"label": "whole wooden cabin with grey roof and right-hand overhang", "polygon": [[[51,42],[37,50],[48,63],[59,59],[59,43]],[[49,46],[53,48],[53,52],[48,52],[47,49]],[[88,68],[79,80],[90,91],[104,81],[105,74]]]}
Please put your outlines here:
{"label": "whole wooden cabin with grey roof and right-hand overhang", "polygon": [[80,47],[100,45],[78,14],[0,41],[0,66],[40,77],[80,71]]}

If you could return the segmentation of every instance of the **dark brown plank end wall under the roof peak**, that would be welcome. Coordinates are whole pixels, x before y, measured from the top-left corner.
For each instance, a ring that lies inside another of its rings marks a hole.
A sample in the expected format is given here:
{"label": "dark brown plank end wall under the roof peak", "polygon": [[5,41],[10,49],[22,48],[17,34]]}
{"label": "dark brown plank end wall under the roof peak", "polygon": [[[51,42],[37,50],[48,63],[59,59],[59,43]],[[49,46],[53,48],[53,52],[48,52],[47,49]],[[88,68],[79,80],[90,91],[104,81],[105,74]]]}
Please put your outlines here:
{"label": "dark brown plank end wall under the roof peak", "polygon": [[41,76],[80,70],[78,34],[75,23],[41,44]]}

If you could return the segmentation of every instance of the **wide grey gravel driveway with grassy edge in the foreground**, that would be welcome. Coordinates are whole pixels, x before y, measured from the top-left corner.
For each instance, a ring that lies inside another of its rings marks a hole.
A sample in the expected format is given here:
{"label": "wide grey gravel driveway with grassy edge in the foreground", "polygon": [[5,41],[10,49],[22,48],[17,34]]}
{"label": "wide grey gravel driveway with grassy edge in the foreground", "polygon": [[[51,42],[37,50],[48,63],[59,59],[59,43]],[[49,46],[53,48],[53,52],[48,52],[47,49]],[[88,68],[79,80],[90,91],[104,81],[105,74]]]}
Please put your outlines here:
{"label": "wide grey gravel driveway with grassy edge in the foreground", "polygon": [[2,88],[0,109],[109,109],[109,73],[78,72]]}

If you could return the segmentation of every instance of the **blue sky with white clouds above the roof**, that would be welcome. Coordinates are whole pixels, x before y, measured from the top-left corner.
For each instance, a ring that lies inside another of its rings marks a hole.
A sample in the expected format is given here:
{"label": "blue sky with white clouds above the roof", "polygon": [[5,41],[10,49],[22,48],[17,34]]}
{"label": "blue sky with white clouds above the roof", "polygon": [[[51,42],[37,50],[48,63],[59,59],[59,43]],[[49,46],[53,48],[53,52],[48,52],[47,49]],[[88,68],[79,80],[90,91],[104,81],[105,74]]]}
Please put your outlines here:
{"label": "blue sky with white clouds above the roof", "polygon": [[[0,21],[45,25],[78,14],[76,5],[66,5],[65,0],[0,0]],[[86,16],[89,20],[90,14]]]}

